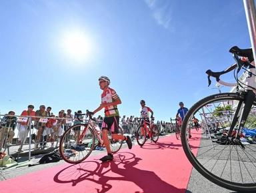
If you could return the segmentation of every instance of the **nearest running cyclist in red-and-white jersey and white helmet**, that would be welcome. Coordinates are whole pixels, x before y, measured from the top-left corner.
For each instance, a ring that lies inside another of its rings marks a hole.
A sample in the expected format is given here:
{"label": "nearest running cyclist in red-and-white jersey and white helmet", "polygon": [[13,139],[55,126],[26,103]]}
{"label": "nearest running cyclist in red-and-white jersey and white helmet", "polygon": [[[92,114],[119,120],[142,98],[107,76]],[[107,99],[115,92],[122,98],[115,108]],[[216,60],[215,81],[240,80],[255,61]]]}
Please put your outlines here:
{"label": "nearest running cyclist in red-and-white jersey and white helmet", "polygon": [[105,118],[101,127],[101,134],[103,137],[103,142],[107,149],[107,156],[103,156],[99,160],[106,162],[107,160],[113,160],[113,154],[109,145],[109,138],[107,136],[109,130],[111,130],[112,137],[115,140],[125,140],[129,149],[133,146],[131,138],[129,136],[123,136],[123,134],[118,134],[119,131],[119,111],[117,109],[117,104],[121,104],[121,100],[117,93],[111,88],[109,88],[110,80],[105,76],[99,77],[99,87],[103,90],[101,94],[101,104],[99,107],[93,111],[93,114],[105,108]]}

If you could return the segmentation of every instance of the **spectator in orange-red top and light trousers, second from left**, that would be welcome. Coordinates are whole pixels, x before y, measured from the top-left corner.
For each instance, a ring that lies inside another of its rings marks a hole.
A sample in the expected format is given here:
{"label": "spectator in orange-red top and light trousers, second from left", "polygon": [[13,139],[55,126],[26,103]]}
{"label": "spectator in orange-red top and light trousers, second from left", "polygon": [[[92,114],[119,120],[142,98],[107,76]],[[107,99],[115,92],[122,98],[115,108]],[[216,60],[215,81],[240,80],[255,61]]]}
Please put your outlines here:
{"label": "spectator in orange-red top and light trousers, second from left", "polygon": [[[21,116],[35,116],[35,111],[34,109],[34,105],[33,104],[29,104],[29,106],[27,106],[27,110],[23,110],[23,112],[21,112]],[[23,144],[26,139],[27,139],[27,134],[29,133],[29,125],[31,124],[31,122],[29,122],[29,120],[35,120],[35,117],[31,117],[27,119],[27,122],[19,122],[17,124],[17,129],[19,130],[19,138],[18,138],[18,142],[17,145],[20,145],[21,143]],[[21,147],[19,147],[18,149],[19,152],[23,152],[23,150],[21,149]]]}

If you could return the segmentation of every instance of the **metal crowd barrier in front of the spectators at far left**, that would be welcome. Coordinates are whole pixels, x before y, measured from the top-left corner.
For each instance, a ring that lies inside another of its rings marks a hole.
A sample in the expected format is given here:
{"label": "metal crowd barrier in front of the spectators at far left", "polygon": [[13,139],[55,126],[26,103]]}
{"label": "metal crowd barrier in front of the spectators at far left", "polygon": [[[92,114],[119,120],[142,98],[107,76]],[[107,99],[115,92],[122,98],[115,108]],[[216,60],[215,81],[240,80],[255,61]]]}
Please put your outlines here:
{"label": "metal crowd barrier in front of the spectators at far left", "polygon": [[[4,116],[4,118],[1,118],[2,120],[5,120],[5,117],[7,116],[13,116],[11,114],[0,114],[0,116]],[[60,136],[63,134],[64,130],[63,127],[66,126],[66,128],[69,128],[69,126],[72,126],[73,120],[71,118],[59,118],[59,117],[42,117],[42,116],[17,116],[14,115],[17,118],[17,122],[15,122],[15,126],[11,129],[8,124],[5,124],[3,121],[1,122],[1,129],[0,129],[0,150],[1,148],[5,148],[5,150],[8,150],[11,146],[7,146],[7,136],[9,134],[9,137],[11,137],[11,144],[12,146],[19,145],[19,148],[17,149],[17,159],[19,158],[19,155],[23,153],[23,145],[29,144],[29,160],[31,160],[31,144],[34,142],[34,144],[38,143],[41,144],[41,148],[43,149],[47,142],[47,136],[49,136],[48,130],[51,130],[51,128],[46,127],[47,122],[50,119],[57,119],[59,120],[66,120],[66,124],[59,125],[59,128],[56,128],[55,132],[57,134],[57,138],[60,138]],[[33,120],[37,118],[38,120]],[[57,124],[57,122],[56,122]],[[55,126],[55,125],[53,125]],[[11,133],[12,130],[15,130],[17,128],[17,138],[13,138],[15,136],[15,133]],[[55,133],[54,132],[54,133]],[[1,134],[3,133],[3,134]],[[58,142],[57,138],[54,138],[54,141],[52,142]]]}

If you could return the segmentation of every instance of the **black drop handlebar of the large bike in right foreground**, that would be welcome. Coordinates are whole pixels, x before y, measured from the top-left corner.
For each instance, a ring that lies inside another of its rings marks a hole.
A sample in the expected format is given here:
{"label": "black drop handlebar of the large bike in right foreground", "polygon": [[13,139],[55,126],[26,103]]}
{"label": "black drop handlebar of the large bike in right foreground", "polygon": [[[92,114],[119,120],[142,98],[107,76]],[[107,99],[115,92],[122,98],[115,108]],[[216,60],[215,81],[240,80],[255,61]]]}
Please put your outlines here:
{"label": "black drop handlebar of the large bike in right foreground", "polygon": [[[229,73],[230,71],[233,71],[236,68],[238,68],[237,73],[239,73],[239,71],[241,70],[242,67],[245,67],[245,68],[247,68],[248,66],[249,66],[249,68],[253,67],[253,65],[250,64],[254,61],[252,49],[239,49],[239,47],[235,46],[235,47],[232,47],[229,50],[229,52],[233,54],[233,58],[235,59],[235,64],[231,65],[231,67],[229,67],[228,69],[225,69],[225,71],[221,71],[221,72],[213,72],[211,70],[207,70],[205,73],[207,73],[207,75],[208,75],[208,87],[211,85],[210,77],[214,77],[216,79],[216,81],[218,83],[220,83],[221,85],[225,85],[227,87],[236,87],[237,83],[225,83],[224,81],[221,81],[221,79],[219,77],[221,77],[221,75],[224,75],[225,73]],[[249,62],[242,61],[241,59],[239,59],[239,56],[247,57]]]}

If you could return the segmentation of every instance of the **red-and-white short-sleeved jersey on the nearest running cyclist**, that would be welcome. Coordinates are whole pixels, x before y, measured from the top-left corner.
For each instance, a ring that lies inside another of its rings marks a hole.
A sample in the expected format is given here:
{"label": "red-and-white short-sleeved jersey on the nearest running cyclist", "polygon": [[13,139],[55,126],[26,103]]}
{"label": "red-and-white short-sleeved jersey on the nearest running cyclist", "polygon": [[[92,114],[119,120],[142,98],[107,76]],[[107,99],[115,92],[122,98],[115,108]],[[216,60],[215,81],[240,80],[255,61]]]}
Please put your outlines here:
{"label": "red-and-white short-sleeved jersey on the nearest running cyclist", "polygon": [[[109,87],[101,94],[102,103],[114,102],[115,100],[117,100],[117,98],[119,98],[117,93],[115,93],[115,91]],[[104,112],[105,117],[119,116],[117,105],[105,106]]]}

